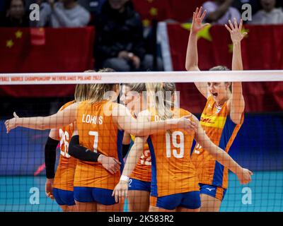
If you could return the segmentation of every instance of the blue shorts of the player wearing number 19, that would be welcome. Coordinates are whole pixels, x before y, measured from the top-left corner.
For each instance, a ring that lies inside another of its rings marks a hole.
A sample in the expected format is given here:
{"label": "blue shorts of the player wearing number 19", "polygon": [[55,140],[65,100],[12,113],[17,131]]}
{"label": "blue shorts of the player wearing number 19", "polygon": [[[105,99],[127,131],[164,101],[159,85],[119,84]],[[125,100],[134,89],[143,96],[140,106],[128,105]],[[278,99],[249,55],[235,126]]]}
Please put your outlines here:
{"label": "blue shorts of the player wearing number 19", "polygon": [[175,210],[178,206],[195,210],[200,208],[200,191],[190,191],[162,197],[151,196],[150,205],[166,210]]}

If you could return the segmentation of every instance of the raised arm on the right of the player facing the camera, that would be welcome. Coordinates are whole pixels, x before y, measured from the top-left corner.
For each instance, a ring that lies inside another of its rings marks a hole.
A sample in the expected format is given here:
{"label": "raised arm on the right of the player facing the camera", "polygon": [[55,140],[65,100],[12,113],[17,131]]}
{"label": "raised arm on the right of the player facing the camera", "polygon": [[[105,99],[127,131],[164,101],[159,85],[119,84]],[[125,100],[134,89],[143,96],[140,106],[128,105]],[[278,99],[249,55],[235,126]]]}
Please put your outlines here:
{"label": "raised arm on the right of the player facing the camera", "polygon": [[[243,61],[241,52],[241,40],[248,34],[247,32],[242,33],[243,20],[238,25],[236,18],[233,23],[229,20],[229,25],[225,25],[226,29],[229,30],[231,40],[233,42],[233,59],[232,59],[232,70],[243,71]],[[230,109],[230,118],[235,124],[241,124],[242,114],[245,109],[245,100],[243,99],[243,90],[241,82],[232,83],[232,95],[228,102]]]}

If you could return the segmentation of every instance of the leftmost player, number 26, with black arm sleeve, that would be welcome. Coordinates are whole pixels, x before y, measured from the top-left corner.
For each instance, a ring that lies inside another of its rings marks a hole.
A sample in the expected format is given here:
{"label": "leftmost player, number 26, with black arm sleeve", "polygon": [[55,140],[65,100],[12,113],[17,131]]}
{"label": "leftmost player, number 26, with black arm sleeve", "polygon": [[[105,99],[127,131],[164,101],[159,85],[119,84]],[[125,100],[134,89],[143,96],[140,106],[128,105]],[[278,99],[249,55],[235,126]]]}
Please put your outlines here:
{"label": "leftmost player, number 26, with black arm sleeve", "polygon": [[[59,111],[62,111],[74,102],[81,102],[88,99],[90,85],[76,85],[75,100],[67,102]],[[47,143],[45,145],[45,167],[46,184],[45,193],[48,197],[54,199],[58,205],[65,211],[74,211],[74,172],[76,169],[76,159],[68,153],[69,141],[74,131],[74,124],[69,124],[60,129],[50,131]],[[60,141],[59,164],[54,172],[56,162],[56,148]]]}

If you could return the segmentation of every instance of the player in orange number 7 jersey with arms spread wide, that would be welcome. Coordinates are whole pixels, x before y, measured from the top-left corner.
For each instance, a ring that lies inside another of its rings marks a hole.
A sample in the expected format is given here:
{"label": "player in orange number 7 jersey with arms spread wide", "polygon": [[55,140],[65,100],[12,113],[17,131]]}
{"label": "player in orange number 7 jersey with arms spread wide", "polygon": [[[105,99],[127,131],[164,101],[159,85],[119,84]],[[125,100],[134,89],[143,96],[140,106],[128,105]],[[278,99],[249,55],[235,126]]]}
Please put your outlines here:
{"label": "player in orange number 7 jersey with arms spread wide", "polygon": [[[66,126],[76,120],[81,145],[96,153],[115,157],[122,163],[120,149],[123,130],[134,136],[146,136],[168,129],[195,127],[195,123],[186,117],[138,124],[125,106],[113,102],[119,89],[117,84],[92,85],[90,100],[74,103],[50,117],[15,117],[7,120],[7,133],[17,126],[44,130]],[[112,100],[105,99],[107,94]],[[122,210],[122,203],[115,203],[115,198],[111,196],[119,178],[120,172],[110,174],[101,165],[78,160],[74,176],[74,197],[78,210]]]}

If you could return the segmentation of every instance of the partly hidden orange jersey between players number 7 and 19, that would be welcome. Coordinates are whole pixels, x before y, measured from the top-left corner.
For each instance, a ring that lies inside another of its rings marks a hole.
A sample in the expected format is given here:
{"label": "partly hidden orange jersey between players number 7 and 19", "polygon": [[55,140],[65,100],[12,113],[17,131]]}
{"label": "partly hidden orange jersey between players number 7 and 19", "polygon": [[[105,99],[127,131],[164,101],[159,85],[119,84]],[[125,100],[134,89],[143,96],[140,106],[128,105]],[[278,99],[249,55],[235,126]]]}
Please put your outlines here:
{"label": "partly hidden orange jersey between players number 7 and 19", "polygon": [[[131,137],[132,143],[134,143],[134,136],[131,135]],[[151,155],[147,143],[144,144],[144,151],[130,177],[143,182],[151,182]]]}

